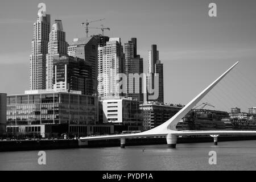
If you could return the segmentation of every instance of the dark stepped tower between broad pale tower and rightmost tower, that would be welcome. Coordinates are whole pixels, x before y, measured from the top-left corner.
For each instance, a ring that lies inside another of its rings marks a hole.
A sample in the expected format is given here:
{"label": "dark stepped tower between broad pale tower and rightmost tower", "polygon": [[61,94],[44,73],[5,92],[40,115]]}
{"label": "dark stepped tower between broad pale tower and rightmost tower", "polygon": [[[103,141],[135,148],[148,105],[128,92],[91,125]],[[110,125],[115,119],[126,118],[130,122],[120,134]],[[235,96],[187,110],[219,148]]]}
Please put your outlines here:
{"label": "dark stepped tower between broad pale tower and rightmost tower", "polygon": [[[136,81],[136,78],[129,77],[129,74],[141,75],[143,73],[143,59],[137,55],[137,39],[131,38],[131,41],[125,43],[125,74],[127,96],[133,100],[143,101],[142,79]],[[145,80],[146,81],[146,80]]]}

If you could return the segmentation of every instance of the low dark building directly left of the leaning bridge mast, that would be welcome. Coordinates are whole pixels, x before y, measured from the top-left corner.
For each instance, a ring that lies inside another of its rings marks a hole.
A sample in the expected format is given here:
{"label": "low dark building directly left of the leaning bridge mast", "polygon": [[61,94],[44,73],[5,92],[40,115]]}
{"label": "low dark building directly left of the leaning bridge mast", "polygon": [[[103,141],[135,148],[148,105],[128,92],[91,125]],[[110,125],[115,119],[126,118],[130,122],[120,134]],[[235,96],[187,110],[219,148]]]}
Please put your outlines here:
{"label": "low dark building directly left of the leaning bridge mast", "polygon": [[162,125],[173,117],[182,107],[160,105],[160,104],[142,104],[139,106],[143,111],[143,130],[150,130]]}

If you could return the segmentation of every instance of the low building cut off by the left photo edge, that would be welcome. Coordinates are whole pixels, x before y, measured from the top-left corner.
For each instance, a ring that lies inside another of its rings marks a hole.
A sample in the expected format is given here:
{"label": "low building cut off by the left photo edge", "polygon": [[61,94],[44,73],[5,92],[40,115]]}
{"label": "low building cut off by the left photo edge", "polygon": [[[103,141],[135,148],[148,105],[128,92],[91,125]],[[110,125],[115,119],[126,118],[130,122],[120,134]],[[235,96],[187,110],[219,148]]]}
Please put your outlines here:
{"label": "low building cut off by the left photo edge", "polygon": [[0,135],[6,132],[6,93],[0,93]]}

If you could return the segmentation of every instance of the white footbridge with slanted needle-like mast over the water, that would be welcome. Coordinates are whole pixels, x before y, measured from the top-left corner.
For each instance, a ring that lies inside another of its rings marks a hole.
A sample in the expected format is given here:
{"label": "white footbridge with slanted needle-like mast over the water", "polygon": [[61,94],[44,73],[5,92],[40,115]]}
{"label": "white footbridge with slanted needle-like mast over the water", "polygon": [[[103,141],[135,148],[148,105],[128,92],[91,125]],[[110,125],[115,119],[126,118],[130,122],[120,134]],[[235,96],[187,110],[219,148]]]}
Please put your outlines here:
{"label": "white footbridge with slanted needle-like mast over the water", "polygon": [[164,122],[162,125],[155,127],[154,129],[144,131],[136,134],[123,134],[123,135],[108,135],[99,137],[81,137],[79,139],[80,146],[88,144],[89,140],[108,140],[108,139],[120,139],[121,148],[125,147],[125,140],[127,138],[148,138],[148,137],[166,137],[166,141],[169,148],[176,148],[177,137],[179,136],[192,136],[192,135],[210,135],[214,138],[214,144],[217,144],[217,138],[219,135],[256,135],[256,131],[230,131],[230,130],[208,130],[208,131],[177,131],[177,123],[185,117],[188,112],[196,106],[196,104],[207,95],[210,90],[214,88],[236,65],[239,61],[230,67],[225,73],[217,78],[212,84],[203,90],[198,96],[193,98],[183,109],[174,115],[171,119]]}

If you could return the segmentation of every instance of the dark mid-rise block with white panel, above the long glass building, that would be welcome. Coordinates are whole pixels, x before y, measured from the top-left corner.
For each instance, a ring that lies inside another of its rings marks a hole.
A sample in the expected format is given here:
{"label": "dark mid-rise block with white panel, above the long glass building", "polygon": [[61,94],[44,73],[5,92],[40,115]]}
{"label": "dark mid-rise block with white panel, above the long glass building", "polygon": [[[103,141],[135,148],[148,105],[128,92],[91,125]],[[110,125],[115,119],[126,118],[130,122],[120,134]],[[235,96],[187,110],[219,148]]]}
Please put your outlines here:
{"label": "dark mid-rise block with white panel, above the long glass building", "polygon": [[78,90],[92,96],[94,93],[92,65],[83,59],[61,56],[53,61],[54,90]]}

